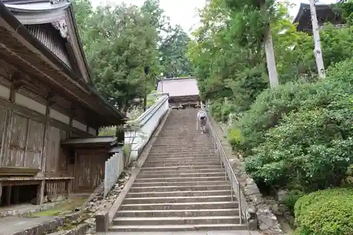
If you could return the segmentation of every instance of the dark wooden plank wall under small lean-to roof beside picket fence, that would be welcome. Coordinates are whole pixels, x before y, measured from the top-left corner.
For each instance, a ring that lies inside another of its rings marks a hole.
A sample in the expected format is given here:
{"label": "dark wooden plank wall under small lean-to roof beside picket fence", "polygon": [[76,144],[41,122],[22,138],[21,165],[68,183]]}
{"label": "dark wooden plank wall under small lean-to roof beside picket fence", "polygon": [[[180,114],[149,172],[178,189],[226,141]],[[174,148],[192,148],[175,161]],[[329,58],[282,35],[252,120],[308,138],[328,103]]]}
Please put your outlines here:
{"label": "dark wooden plank wall under small lean-to roof beside picket fence", "polygon": [[74,192],[92,192],[104,180],[107,149],[76,150]]}

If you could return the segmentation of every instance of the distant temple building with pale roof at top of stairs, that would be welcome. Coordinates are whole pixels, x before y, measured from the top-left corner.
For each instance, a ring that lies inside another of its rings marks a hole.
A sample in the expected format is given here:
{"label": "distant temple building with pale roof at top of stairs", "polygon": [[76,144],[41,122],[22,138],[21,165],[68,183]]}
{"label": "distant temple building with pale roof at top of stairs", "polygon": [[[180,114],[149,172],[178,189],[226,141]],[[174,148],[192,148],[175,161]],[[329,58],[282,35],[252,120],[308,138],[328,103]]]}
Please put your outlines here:
{"label": "distant temple building with pale roof at top of stairs", "polygon": [[160,79],[157,80],[156,90],[169,96],[169,104],[172,107],[194,107],[201,101],[195,77]]}

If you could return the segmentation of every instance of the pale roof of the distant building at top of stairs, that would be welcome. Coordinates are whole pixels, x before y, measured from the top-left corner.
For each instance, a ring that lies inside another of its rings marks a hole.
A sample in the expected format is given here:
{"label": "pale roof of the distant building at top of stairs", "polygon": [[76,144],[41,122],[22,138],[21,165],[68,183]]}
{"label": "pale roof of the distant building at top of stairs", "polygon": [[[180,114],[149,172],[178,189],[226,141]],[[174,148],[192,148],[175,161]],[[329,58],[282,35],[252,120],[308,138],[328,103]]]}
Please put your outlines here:
{"label": "pale roof of the distant building at top of stairs", "polygon": [[157,91],[169,97],[198,96],[198,82],[195,77],[165,78],[158,80]]}

